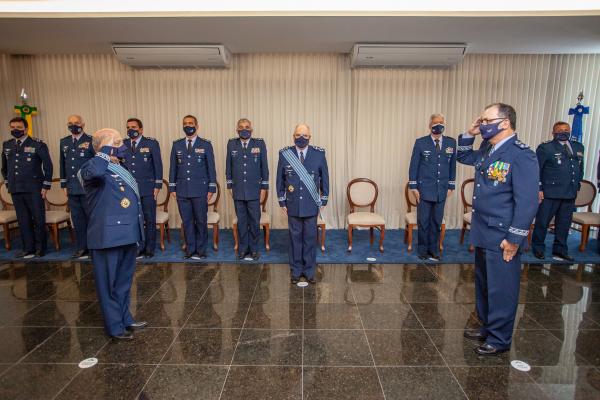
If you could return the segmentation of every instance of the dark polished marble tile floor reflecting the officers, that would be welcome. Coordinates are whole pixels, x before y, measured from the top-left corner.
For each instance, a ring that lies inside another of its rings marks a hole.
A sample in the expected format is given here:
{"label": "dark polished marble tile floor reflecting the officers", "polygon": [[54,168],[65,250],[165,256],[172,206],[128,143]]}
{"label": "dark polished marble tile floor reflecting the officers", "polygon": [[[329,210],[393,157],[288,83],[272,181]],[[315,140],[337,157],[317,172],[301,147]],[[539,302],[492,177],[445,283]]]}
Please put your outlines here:
{"label": "dark polished marble tile floor reflecting the officers", "polygon": [[90,264],[2,264],[0,399],[600,399],[600,266],[525,266],[513,347],[492,358],[462,337],[471,265],[321,265],[318,279],[140,264],[131,307],[151,327],[115,343]]}

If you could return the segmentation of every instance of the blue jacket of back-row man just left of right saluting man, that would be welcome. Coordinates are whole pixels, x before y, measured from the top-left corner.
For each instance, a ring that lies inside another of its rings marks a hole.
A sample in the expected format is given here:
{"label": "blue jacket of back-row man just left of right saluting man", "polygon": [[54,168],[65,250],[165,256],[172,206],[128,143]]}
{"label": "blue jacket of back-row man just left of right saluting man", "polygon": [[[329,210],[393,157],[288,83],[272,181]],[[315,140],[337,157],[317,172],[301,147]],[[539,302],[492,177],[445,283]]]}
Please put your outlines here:
{"label": "blue jacket of back-row man just left of right saluting man", "polygon": [[456,186],[456,140],[443,136],[437,151],[431,135],[418,138],[410,158],[408,179],[408,187],[418,189],[423,200],[446,200],[448,190]]}

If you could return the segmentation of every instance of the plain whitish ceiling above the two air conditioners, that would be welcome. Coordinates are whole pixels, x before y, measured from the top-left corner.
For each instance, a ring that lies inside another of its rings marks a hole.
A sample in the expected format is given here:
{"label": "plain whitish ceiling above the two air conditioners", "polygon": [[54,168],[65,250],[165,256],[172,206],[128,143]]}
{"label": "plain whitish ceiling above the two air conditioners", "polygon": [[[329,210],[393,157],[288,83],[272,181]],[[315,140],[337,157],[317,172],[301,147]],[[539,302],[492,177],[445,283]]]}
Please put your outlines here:
{"label": "plain whitish ceiling above the two air conditioners", "polygon": [[234,53],[467,43],[469,53],[600,53],[600,16],[0,18],[0,52],[110,53],[111,43],[218,43]]}

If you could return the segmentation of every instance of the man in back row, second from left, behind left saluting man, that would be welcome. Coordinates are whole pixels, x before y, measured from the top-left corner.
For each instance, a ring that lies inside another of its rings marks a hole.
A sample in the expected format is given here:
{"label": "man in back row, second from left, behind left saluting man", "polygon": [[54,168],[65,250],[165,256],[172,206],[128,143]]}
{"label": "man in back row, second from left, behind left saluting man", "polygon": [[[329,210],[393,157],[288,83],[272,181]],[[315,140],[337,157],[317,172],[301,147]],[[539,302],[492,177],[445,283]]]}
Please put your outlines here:
{"label": "man in back row, second from left, behind left saluting man", "polygon": [[70,135],[60,139],[60,187],[67,195],[69,211],[75,228],[77,250],[71,258],[87,258],[87,221],[89,212],[85,192],[77,173],[81,166],[94,157],[92,137],[84,132],[85,122],[79,115],[70,115],[67,129]]}

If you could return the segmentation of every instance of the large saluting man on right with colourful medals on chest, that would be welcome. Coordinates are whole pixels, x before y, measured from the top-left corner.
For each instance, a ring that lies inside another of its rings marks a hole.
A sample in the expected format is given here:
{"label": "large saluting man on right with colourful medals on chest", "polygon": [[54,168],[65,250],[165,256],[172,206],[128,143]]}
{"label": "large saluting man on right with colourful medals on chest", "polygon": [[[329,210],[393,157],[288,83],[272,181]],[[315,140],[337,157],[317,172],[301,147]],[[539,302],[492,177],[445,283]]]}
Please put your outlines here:
{"label": "large saluting man on right with colourful medals on chest", "polygon": [[[513,107],[495,103],[485,108],[458,138],[458,161],[475,166],[471,238],[475,246],[475,293],[478,330],[467,339],[484,342],[479,355],[510,349],[519,301],[520,247],[538,207],[539,167],[535,153],[517,139]],[[474,136],[483,138],[473,150]]]}

